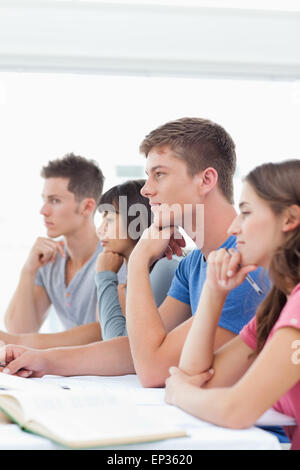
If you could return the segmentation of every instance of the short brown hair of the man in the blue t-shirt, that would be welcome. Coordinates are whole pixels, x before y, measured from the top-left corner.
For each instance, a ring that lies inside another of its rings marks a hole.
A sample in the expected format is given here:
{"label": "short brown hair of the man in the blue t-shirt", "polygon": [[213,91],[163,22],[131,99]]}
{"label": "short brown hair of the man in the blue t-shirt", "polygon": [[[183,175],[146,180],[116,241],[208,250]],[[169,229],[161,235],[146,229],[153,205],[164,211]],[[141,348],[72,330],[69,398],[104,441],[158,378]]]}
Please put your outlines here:
{"label": "short brown hair of the man in the blue t-shirt", "polygon": [[215,168],[222,194],[233,203],[235,144],[223,127],[201,118],[170,121],[150,132],[141,143],[140,151],[147,157],[151,149],[164,145],[186,162],[192,176],[208,167]]}

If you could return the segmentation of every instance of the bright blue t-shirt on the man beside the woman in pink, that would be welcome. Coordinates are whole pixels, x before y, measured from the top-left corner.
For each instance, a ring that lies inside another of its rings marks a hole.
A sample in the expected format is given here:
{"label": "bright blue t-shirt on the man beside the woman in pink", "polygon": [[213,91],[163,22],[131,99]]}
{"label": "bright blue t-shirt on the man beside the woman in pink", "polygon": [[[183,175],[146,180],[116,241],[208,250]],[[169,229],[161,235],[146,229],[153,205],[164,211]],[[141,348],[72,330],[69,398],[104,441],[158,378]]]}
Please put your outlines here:
{"label": "bright blue t-shirt on the man beside the woman in pink", "polygon": [[[231,235],[220,248],[236,248],[236,237]],[[201,250],[193,250],[180,263],[168,295],[191,306],[192,315],[196,313],[201,291],[206,279],[207,262]],[[262,268],[251,272],[252,279],[262,289],[259,295],[247,280],[228,294],[219,326],[238,334],[256,312],[270,288],[266,272]]]}

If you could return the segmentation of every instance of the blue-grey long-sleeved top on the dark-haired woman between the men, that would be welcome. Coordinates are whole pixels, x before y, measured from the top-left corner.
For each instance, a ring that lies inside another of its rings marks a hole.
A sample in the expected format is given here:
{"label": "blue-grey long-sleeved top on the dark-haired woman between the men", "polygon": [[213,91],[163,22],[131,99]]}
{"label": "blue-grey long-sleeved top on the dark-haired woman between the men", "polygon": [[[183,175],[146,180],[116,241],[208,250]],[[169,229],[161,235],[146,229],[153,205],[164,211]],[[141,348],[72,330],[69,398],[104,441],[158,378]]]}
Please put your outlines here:
{"label": "blue-grey long-sleeved top on the dark-haired woman between the men", "polygon": [[[181,258],[173,256],[172,260],[162,258],[155,264],[150,273],[150,283],[157,307],[167,296],[172,279]],[[112,271],[102,271],[95,275],[98,296],[99,320],[104,340],[116,336],[127,336],[126,319],[118,296],[118,277]],[[136,286],[138,289],[138,286]]]}

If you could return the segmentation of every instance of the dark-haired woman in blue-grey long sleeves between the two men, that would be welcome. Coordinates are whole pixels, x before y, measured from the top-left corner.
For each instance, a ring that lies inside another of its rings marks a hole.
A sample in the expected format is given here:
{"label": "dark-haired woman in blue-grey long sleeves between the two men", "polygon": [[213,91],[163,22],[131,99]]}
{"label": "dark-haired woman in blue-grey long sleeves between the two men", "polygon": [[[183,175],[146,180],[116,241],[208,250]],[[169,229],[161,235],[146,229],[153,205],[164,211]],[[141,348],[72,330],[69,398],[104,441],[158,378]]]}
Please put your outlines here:
{"label": "dark-haired woman in blue-grey long sleeves between the two men", "polygon": [[[117,273],[143,231],[151,225],[151,207],[140,191],[144,180],[127,181],[103,194],[99,211],[103,221],[97,230],[104,251],[96,262],[98,313],[104,340],[127,335],[126,285],[118,285]],[[165,299],[178,259],[163,258],[152,268],[150,281],[157,306]],[[138,288],[138,286],[137,286]]]}

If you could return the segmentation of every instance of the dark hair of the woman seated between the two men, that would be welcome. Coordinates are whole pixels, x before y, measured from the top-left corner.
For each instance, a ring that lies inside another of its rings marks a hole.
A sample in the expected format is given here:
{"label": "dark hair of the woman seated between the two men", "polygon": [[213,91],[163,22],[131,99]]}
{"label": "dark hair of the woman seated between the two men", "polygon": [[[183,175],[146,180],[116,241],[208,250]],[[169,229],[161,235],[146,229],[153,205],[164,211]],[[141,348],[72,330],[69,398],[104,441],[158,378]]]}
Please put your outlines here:
{"label": "dark hair of the woman seated between the two men", "polygon": [[145,180],[139,179],[113,186],[102,195],[98,207],[100,212],[105,212],[108,206],[113,206],[122,217],[128,237],[135,243],[139,241],[143,231],[152,223],[149,200],[141,195],[144,184]]}

